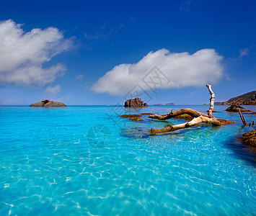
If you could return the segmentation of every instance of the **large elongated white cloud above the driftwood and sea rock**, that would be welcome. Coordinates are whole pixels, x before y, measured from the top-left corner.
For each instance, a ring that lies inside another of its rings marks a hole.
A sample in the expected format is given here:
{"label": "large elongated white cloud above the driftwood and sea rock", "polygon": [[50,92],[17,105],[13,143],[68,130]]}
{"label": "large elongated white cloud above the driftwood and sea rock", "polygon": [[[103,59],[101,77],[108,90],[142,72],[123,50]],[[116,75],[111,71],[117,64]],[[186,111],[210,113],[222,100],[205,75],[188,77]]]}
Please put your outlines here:
{"label": "large elongated white cloud above the driftwood and sea rock", "polygon": [[223,74],[222,56],[213,49],[189,53],[150,52],[138,63],[120,64],[92,86],[99,93],[124,95],[138,84],[141,89],[171,89],[215,84]]}

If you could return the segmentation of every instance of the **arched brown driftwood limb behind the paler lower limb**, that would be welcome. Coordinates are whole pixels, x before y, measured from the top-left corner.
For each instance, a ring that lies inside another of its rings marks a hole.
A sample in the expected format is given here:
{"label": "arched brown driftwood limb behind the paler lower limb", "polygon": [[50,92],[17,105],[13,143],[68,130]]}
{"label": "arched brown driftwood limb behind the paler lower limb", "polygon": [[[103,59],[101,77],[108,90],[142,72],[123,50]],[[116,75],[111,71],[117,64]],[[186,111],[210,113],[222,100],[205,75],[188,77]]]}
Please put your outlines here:
{"label": "arched brown driftwood limb behind the paler lower limb", "polygon": [[200,117],[200,116],[208,117],[207,114],[203,114],[202,112],[198,112],[195,109],[184,108],[184,109],[179,109],[175,112],[169,112],[167,114],[162,114],[162,115],[151,114],[151,115],[149,115],[149,118],[158,119],[158,120],[169,120],[170,118],[179,116],[181,114],[189,114],[190,116],[192,116],[194,118]]}

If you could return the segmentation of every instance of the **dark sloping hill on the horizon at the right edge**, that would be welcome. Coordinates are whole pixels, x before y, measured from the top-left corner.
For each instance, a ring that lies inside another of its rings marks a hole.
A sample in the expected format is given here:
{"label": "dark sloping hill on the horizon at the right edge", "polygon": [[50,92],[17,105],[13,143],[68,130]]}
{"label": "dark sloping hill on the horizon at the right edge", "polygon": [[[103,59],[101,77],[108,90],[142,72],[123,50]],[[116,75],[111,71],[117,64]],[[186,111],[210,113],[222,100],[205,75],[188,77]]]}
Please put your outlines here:
{"label": "dark sloping hill on the horizon at the right edge", "polygon": [[227,102],[223,102],[223,105],[256,105],[256,91],[251,91],[247,94],[235,96],[229,99]]}

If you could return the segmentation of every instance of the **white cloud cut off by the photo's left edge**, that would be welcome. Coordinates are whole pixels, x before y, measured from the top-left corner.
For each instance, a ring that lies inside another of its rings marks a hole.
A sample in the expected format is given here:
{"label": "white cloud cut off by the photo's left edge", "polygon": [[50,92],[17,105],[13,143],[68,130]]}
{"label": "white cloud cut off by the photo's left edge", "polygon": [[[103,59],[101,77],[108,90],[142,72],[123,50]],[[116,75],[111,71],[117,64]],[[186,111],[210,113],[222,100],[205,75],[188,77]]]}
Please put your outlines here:
{"label": "white cloud cut off by the photo's left edge", "polygon": [[72,39],[65,39],[55,27],[30,32],[12,19],[0,22],[0,81],[17,85],[44,86],[63,75],[62,64],[43,67],[64,51],[73,47]]}

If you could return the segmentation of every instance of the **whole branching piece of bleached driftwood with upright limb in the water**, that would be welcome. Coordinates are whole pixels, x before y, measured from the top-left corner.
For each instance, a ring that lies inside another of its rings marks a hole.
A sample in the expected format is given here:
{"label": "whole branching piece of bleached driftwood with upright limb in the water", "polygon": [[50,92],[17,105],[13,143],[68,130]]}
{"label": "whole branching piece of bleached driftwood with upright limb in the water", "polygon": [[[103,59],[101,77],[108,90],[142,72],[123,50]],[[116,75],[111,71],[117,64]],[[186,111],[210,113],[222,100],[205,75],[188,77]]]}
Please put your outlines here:
{"label": "whole branching piece of bleached driftwood with upright limb in the water", "polygon": [[[193,120],[191,120],[190,122],[185,122],[180,125],[173,125],[173,126],[164,127],[161,129],[154,129],[153,127],[151,127],[150,134],[154,135],[154,134],[162,133],[162,132],[171,132],[171,131],[175,131],[175,130],[180,130],[180,129],[184,129],[187,127],[192,127],[192,126],[198,125],[203,122],[214,125],[214,126],[224,125],[222,122],[228,122],[228,121],[224,121],[224,120],[217,120],[216,118],[213,117],[212,112],[213,112],[215,94],[213,93],[213,91],[211,89],[211,85],[206,85],[206,87],[208,88],[208,90],[211,94],[210,108],[207,111],[208,115],[203,114],[202,112],[198,112],[194,109],[179,109],[175,112],[171,111],[171,112],[169,112],[167,114],[163,114],[163,115],[152,114],[152,115],[149,115],[149,118],[158,119],[158,120],[168,120],[172,117],[177,117],[182,114],[189,114],[191,117],[193,117]],[[233,123],[233,122],[230,122],[230,123]]]}

